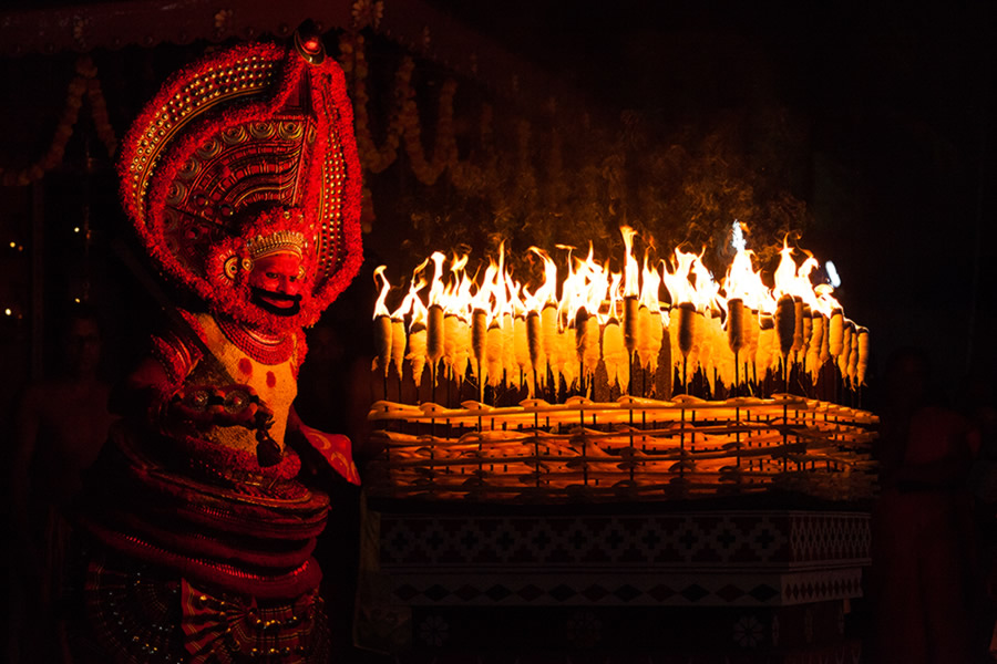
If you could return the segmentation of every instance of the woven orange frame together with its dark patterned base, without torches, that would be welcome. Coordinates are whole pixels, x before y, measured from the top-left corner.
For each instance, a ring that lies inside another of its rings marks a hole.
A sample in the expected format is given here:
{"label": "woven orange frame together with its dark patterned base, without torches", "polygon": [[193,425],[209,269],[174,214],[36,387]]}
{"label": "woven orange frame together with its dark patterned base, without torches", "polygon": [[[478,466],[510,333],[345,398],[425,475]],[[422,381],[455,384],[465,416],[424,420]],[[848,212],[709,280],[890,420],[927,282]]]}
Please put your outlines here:
{"label": "woven orange frame together with its dark patterned base, without torches", "polygon": [[868,413],[625,397],[370,417],[361,641],[402,661],[859,657]]}

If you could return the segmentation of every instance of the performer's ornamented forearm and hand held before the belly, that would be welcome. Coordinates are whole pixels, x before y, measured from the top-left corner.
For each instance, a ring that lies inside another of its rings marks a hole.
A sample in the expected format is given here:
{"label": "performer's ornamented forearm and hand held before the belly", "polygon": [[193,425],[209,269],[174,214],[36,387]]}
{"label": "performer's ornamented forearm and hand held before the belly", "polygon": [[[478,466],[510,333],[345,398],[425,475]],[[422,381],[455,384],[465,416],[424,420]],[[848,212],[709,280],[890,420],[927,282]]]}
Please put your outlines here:
{"label": "performer's ornamented forearm and hand held before the belly", "polygon": [[260,421],[274,416],[249,385],[198,385],[183,390],[173,397],[171,413],[203,426],[246,428],[257,428]]}

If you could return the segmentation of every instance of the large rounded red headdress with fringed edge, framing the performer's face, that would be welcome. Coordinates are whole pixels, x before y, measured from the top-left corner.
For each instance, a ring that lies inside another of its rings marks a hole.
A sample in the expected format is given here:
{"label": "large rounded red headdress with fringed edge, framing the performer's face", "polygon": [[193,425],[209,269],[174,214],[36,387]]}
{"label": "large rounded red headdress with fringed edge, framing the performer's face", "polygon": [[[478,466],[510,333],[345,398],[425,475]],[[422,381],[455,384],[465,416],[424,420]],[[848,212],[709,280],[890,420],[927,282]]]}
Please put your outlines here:
{"label": "large rounded red headdress with fringed edge, framing the performer's face", "polygon": [[255,43],[177,72],[125,139],[125,209],[148,251],[212,308],[250,324],[261,248],[302,259],[315,322],[362,260],[360,163],[342,70],[318,40]]}

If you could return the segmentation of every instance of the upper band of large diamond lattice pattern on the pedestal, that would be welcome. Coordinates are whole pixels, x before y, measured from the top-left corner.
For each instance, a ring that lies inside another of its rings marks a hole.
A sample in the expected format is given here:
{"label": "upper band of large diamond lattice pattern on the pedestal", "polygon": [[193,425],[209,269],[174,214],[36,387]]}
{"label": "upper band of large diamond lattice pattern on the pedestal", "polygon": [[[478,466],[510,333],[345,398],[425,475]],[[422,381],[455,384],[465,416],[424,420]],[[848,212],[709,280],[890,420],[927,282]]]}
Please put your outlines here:
{"label": "upper band of large diamond lattice pattern on the pedestal", "polygon": [[384,568],[799,569],[868,564],[868,516],[744,511],[381,516]]}

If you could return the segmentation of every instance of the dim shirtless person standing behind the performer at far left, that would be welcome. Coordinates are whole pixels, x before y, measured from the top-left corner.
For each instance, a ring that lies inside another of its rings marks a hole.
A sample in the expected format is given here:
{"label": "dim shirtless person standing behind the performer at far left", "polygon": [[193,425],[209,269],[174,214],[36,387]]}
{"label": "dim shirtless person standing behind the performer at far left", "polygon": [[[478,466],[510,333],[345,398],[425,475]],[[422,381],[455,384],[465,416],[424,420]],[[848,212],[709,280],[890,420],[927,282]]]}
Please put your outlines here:
{"label": "dim shirtless person standing behind the performer at far left", "polygon": [[22,600],[16,625],[24,662],[61,656],[53,649],[61,650],[64,637],[59,613],[71,538],[66,512],[114,419],[110,387],[99,375],[101,329],[93,311],[73,308],[60,341],[58,372],[31,385],[18,409],[10,468]]}

